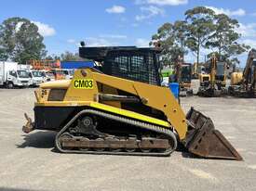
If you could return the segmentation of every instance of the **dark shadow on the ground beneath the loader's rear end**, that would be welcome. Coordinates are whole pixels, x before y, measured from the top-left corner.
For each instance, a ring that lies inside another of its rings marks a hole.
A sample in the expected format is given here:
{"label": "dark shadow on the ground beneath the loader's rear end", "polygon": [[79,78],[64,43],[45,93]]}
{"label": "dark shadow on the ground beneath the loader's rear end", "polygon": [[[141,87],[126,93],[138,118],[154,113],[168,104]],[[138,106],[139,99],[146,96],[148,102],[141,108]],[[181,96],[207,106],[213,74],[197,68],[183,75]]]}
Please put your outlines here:
{"label": "dark shadow on the ground beneath the loader's rear end", "polygon": [[54,147],[54,139],[56,132],[35,132],[33,134],[23,134],[24,142],[16,145],[18,148],[36,147],[36,148],[52,148]]}

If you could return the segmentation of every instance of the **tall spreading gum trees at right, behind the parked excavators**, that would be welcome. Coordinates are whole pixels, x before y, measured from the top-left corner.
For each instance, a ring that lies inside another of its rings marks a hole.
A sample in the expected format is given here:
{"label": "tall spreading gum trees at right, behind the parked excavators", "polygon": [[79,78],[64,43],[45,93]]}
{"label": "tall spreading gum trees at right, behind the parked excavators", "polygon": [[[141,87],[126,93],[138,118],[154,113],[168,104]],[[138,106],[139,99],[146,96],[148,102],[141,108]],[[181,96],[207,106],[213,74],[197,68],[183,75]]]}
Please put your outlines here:
{"label": "tall spreading gum trees at right, behind the parked excavators", "polygon": [[185,11],[183,20],[164,23],[152,36],[150,45],[161,45],[164,65],[174,64],[189,52],[199,63],[202,51],[208,50],[228,64],[238,63],[237,56],[249,50],[249,45],[239,44],[239,23],[225,14],[216,14],[205,6]]}

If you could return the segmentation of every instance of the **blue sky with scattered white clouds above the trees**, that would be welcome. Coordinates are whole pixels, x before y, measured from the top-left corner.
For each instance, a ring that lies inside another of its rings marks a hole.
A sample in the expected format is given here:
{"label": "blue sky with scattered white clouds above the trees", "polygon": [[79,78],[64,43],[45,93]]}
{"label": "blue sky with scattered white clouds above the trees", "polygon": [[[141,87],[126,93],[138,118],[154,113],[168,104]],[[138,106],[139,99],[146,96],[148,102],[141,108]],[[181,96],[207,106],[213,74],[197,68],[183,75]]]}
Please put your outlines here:
{"label": "blue sky with scattered white clouds above the trees", "polygon": [[[163,23],[184,19],[184,12],[195,6],[237,19],[240,42],[256,48],[255,0],[2,0],[0,22],[10,17],[32,20],[44,36],[48,55],[60,55],[77,52],[80,41],[88,46],[148,46]],[[241,66],[247,54],[238,57]],[[195,61],[191,54],[185,59]]]}

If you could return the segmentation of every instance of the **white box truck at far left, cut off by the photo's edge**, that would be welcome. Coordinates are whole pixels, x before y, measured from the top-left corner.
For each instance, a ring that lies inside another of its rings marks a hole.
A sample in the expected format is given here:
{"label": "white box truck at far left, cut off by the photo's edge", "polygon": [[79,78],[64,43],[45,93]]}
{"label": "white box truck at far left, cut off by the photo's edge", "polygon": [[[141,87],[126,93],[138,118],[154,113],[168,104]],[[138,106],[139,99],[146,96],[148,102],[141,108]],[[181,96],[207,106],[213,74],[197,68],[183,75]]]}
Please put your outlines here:
{"label": "white box truck at far left, cut off by the photo's edge", "polygon": [[7,88],[25,87],[29,85],[29,81],[28,72],[20,70],[17,62],[0,61],[0,85]]}

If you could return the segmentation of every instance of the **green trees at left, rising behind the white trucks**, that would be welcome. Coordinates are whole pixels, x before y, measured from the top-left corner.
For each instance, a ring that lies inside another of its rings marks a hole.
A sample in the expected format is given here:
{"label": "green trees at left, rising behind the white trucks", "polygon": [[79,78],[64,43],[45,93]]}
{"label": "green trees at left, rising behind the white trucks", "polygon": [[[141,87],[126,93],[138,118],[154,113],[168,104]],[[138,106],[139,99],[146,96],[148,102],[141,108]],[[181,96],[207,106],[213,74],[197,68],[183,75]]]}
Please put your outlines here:
{"label": "green trees at left, rising behind the white trucks", "polygon": [[44,37],[29,19],[9,18],[0,25],[0,61],[25,64],[30,59],[62,61],[82,60],[78,53],[66,51],[61,56],[47,55]]}

